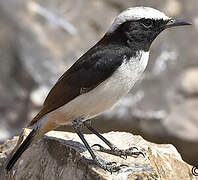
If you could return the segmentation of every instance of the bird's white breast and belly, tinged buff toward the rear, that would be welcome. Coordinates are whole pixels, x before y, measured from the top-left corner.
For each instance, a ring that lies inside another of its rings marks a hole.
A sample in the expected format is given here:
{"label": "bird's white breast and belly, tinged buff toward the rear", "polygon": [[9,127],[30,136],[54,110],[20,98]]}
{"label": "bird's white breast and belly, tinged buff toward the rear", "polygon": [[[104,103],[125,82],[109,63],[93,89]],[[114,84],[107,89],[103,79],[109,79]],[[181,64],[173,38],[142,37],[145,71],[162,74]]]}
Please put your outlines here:
{"label": "bird's white breast and belly, tinged buff toward the rear", "polygon": [[123,62],[110,78],[96,88],[55,110],[65,115],[66,122],[61,123],[68,124],[79,117],[86,120],[111,108],[129,92],[145,70],[149,53],[141,53],[140,57],[140,59]]}

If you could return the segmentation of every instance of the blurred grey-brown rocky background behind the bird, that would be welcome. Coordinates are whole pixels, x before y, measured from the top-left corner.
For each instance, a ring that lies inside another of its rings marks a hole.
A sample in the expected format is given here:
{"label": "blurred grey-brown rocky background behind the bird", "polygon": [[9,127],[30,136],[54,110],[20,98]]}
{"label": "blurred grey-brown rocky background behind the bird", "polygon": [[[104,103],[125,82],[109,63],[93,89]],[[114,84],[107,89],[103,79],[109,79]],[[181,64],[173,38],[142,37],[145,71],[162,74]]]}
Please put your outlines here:
{"label": "blurred grey-brown rocky background behind the bird", "polygon": [[61,74],[131,6],[151,6],[193,26],[162,33],[142,80],[93,125],[172,143],[185,161],[198,163],[197,0],[0,0],[1,143],[19,134]]}

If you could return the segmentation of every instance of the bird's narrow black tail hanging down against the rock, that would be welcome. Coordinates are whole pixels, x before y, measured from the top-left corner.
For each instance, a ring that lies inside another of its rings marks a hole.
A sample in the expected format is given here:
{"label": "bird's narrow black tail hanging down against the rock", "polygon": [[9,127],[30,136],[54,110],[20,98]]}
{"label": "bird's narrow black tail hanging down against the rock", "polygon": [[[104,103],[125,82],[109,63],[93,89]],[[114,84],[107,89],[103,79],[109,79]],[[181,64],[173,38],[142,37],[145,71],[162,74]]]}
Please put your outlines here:
{"label": "bird's narrow black tail hanging down against the rock", "polygon": [[31,142],[34,140],[35,135],[37,134],[37,129],[33,129],[29,135],[26,137],[26,139],[22,142],[22,144],[17,148],[17,150],[12,154],[12,156],[8,159],[6,163],[6,170],[10,171],[16,161],[20,158],[22,153],[28,148],[28,146],[31,144]]}

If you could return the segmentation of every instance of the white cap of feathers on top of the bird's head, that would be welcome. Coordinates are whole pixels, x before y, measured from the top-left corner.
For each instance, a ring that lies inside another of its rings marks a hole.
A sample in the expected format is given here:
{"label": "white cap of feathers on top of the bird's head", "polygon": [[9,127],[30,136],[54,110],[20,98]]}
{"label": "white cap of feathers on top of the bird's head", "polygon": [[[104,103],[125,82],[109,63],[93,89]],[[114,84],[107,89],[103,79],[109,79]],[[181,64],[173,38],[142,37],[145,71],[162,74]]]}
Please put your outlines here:
{"label": "white cap of feathers on top of the bird's head", "polygon": [[166,16],[161,11],[150,8],[150,7],[134,7],[134,8],[128,8],[125,11],[121,12],[116,19],[114,20],[113,24],[107,31],[107,33],[111,33],[117,29],[117,27],[130,20],[138,20],[138,19],[163,19],[163,20],[169,20],[170,17]]}

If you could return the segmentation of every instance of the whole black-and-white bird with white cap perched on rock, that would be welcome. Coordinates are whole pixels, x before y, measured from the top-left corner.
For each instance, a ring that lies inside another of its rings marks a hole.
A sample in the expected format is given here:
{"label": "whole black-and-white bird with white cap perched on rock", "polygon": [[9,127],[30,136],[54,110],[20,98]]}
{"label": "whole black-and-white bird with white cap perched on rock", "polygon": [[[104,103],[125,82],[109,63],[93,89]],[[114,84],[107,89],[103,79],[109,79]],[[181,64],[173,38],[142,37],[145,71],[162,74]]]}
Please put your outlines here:
{"label": "whole black-and-white bird with white cap perched on rock", "polygon": [[143,154],[136,147],[117,148],[92,127],[91,119],[112,108],[140,79],[156,37],[165,29],[184,25],[191,23],[168,17],[151,7],[131,7],[122,11],[103,37],[52,87],[41,110],[27,125],[31,132],[18,143],[5,169],[10,171],[30,144],[61,125],[73,126],[93,162],[106,171],[119,171],[121,167],[94,153],[93,146],[90,147],[82,133],[83,125],[109,146],[94,145],[103,152],[121,157]]}

